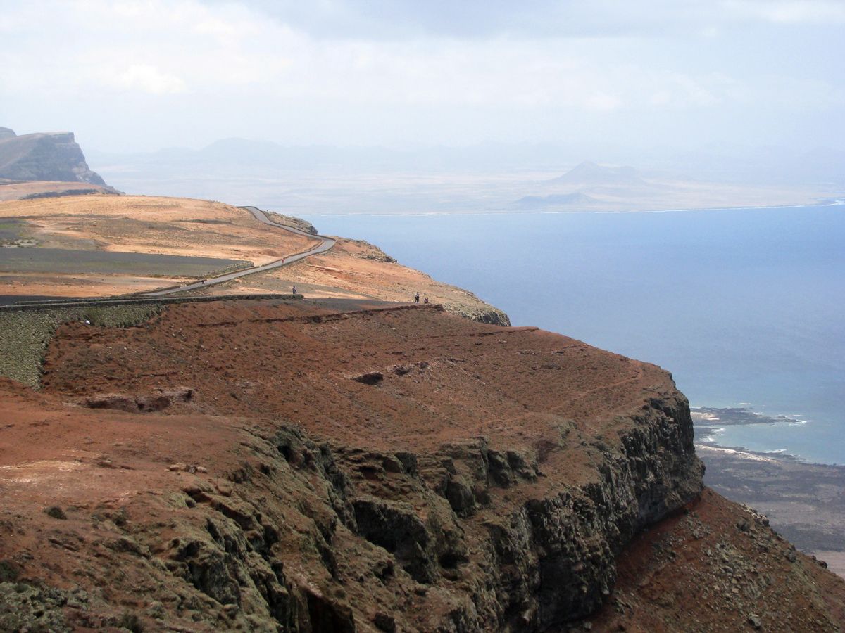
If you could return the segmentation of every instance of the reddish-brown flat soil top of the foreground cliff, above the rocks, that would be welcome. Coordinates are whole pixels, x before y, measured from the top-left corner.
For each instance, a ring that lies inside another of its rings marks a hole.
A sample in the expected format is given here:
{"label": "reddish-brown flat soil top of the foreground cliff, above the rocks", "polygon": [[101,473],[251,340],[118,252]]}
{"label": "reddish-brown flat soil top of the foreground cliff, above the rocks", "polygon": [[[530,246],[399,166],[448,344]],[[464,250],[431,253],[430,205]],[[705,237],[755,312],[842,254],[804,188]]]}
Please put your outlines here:
{"label": "reddish-brown flat soil top of the foreground cliff, above the rocks", "polygon": [[[436,306],[335,305],[215,302],[170,306],[146,327],[70,323],[51,344],[42,385],[68,399],[190,387],[190,405],[174,411],[285,419],[312,436],[393,450],[481,435],[536,442],[571,420],[593,436],[674,389],[655,365],[533,327],[492,327]],[[353,380],[368,372],[383,377]]]}

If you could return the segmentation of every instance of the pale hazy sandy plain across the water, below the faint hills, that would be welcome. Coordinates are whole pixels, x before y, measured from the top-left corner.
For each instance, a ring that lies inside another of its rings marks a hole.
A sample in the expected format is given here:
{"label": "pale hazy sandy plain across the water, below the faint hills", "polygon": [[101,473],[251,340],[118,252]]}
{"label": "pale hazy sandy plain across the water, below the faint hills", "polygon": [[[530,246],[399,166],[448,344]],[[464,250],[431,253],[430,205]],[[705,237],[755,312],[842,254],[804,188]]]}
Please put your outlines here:
{"label": "pale hazy sandy plain across the water, below the faint hills", "polygon": [[[132,192],[167,192],[170,195],[248,200],[292,215],[321,214],[427,214],[519,212],[525,196],[547,196],[580,190],[553,182],[563,170],[504,172],[260,170],[214,179],[199,170],[101,170],[106,180]],[[338,173],[340,172],[340,173]],[[651,179],[649,179],[651,180]],[[199,183],[199,184],[198,184]],[[550,207],[561,211],[634,211],[677,208],[726,208],[815,204],[819,198],[839,197],[831,186],[740,186],[711,181],[655,178],[651,187],[584,187],[596,202]]]}

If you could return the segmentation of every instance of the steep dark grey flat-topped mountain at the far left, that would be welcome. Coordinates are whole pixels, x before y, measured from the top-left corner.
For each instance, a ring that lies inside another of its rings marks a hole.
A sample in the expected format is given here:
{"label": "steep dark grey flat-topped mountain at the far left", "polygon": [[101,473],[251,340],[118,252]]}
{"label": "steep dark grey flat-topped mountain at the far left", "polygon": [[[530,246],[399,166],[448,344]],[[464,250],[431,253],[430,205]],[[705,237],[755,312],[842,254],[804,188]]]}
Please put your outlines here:
{"label": "steep dark grey flat-topped mountain at the far left", "polygon": [[91,171],[72,132],[18,136],[0,127],[0,179],[9,181],[87,182],[106,186]]}

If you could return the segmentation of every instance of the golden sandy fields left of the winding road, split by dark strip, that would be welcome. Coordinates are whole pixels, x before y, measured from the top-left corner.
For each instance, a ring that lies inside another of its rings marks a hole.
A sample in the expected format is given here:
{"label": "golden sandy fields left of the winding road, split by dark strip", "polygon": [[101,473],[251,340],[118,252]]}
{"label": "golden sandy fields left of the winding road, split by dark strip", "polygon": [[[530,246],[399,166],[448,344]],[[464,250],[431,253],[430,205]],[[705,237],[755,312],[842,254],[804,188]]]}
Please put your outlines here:
{"label": "golden sandy fields left of the winding road, split by dark strip", "polygon": [[[317,242],[284,230],[272,230],[243,209],[226,204],[176,198],[80,196],[0,203],[0,221],[25,238],[29,248],[103,250],[246,260],[260,265],[301,252]],[[23,225],[20,222],[23,221]],[[35,246],[30,246],[34,243]],[[41,274],[30,279],[19,271],[0,275],[0,294],[113,295],[172,285],[105,278],[101,274]],[[123,278],[123,279],[120,279]]]}

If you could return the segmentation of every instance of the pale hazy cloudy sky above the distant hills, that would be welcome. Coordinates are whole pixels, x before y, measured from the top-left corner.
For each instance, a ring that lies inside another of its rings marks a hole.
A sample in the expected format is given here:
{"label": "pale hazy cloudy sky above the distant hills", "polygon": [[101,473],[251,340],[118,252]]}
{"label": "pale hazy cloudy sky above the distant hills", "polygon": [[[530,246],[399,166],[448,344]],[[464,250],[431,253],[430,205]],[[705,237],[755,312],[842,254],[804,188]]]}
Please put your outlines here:
{"label": "pale hazy cloudy sky above the distant hills", "polygon": [[0,0],[0,126],[84,148],[845,149],[843,0]]}

